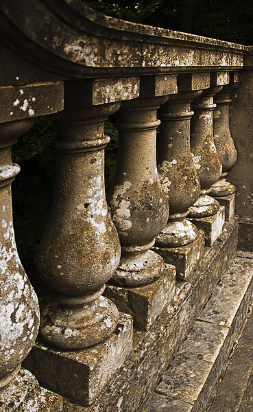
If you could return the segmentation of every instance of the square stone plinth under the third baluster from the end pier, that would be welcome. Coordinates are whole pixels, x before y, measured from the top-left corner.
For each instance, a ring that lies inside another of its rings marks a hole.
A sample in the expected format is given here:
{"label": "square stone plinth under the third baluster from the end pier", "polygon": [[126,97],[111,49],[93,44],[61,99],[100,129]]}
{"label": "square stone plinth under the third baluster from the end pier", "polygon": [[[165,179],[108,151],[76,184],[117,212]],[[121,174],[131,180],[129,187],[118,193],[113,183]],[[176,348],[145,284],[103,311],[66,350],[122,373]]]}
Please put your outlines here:
{"label": "square stone plinth under the third baluster from the end pier", "polygon": [[176,266],[177,279],[189,279],[204,255],[204,232],[200,230],[197,238],[182,247],[153,247],[152,250],[162,256],[165,263]]}

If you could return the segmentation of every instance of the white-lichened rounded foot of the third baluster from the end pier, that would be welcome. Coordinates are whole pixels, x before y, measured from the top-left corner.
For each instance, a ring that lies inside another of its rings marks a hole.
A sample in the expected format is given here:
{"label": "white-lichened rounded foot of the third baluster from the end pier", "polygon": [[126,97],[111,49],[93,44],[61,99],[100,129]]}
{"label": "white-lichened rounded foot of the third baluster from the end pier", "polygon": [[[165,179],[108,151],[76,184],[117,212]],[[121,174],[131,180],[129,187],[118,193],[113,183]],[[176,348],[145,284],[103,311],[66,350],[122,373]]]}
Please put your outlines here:
{"label": "white-lichened rounded foot of the third baluster from the end pier", "polygon": [[156,237],[158,247],[182,247],[197,238],[197,227],[190,220],[169,220],[165,229]]}

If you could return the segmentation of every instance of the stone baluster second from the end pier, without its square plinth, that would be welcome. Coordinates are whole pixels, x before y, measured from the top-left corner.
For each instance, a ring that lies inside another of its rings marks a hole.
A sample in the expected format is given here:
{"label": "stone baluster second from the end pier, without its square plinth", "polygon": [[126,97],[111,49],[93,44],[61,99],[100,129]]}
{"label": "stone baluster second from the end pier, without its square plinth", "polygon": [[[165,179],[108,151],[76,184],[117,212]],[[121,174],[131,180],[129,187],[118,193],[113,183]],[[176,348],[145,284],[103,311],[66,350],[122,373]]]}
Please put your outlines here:
{"label": "stone baluster second from the end pier, without its square plinth", "polygon": [[195,99],[191,119],[191,151],[193,161],[200,177],[201,196],[189,209],[189,217],[202,218],[213,216],[219,210],[219,203],[207,196],[210,187],[221,176],[222,166],[213,137],[213,96],[222,89],[221,86],[210,87]]}

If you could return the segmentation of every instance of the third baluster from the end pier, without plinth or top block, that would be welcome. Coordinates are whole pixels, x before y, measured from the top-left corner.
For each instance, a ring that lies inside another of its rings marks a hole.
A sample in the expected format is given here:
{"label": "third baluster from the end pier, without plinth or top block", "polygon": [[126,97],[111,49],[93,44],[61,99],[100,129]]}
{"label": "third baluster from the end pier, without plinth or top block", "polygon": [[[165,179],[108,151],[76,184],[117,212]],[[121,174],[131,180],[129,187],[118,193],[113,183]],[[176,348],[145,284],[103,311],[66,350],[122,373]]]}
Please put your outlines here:
{"label": "third baluster from the end pier, without plinth or top block", "polygon": [[185,91],[171,95],[162,104],[159,128],[158,174],[169,200],[169,222],[157,236],[156,245],[182,247],[193,242],[197,228],[185,216],[200,196],[190,146],[191,101],[202,91]]}

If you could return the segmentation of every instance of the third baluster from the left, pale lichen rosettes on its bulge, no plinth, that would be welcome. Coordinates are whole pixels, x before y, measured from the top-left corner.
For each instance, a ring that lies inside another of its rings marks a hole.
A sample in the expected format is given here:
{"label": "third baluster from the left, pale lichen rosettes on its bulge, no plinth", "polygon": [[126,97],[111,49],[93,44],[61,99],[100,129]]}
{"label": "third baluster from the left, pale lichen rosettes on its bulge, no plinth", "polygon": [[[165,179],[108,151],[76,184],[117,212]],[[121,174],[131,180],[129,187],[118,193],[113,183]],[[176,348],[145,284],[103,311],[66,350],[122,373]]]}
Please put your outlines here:
{"label": "third baluster from the left, pale lichen rosettes on its bulge, no plinth", "polygon": [[122,255],[111,282],[136,287],[154,282],[165,263],[149,249],[169,217],[167,198],[156,168],[156,109],[167,97],[123,102],[116,124],[119,150],[116,185],[110,197],[112,220],[119,232]]}

